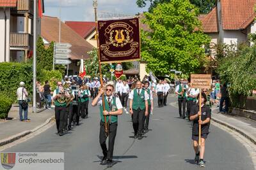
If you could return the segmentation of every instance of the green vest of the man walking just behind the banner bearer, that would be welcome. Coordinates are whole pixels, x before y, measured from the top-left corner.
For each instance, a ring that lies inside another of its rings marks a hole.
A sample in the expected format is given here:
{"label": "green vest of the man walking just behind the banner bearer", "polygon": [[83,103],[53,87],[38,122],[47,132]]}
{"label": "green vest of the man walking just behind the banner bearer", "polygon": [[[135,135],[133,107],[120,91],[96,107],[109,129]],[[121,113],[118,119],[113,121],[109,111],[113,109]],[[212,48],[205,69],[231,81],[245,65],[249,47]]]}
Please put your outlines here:
{"label": "green vest of the man walking just behind the banner bearer", "polygon": [[138,108],[145,109],[145,90],[140,89],[140,91],[140,96],[138,96],[137,89],[133,91],[132,109],[134,110],[138,110]]}

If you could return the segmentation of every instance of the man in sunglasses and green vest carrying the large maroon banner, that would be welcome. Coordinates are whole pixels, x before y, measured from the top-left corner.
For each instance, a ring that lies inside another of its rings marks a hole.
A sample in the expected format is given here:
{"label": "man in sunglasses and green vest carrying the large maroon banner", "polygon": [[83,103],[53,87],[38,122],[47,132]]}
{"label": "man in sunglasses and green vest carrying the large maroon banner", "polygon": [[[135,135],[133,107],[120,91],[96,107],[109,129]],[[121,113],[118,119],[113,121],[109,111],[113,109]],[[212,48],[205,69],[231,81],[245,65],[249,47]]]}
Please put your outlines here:
{"label": "man in sunglasses and green vest carrying the large maroon banner", "polygon": [[[100,106],[100,146],[102,148],[103,158],[100,162],[101,165],[108,164],[108,167],[111,167],[112,159],[113,159],[113,150],[114,143],[116,138],[116,129],[117,129],[117,117],[118,115],[122,115],[122,104],[118,97],[113,96],[113,85],[107,85],[106,87],[106,96],[104,96],[104,104],[105,109],[102,106],[102,95],[104,94],[104,89],[99,90],[99,94],[93,99],[92,106],[99,105]],[[104,127],[104,122],[106,116],[106,122],[108,122],[109,129],[109,143],[108,148],[106,145],[106,132]]]}

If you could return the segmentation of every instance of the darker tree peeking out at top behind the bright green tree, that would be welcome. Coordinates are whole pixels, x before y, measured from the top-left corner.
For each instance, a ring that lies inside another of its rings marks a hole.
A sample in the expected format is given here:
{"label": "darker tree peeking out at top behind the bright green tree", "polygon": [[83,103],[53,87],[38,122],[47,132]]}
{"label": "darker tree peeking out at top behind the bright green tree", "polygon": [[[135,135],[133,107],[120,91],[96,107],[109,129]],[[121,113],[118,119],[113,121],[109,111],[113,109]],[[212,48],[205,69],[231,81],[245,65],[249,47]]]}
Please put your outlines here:
{"label": "darker tree peeking out at top behind the bright green tree", "polygon": [[[148,11],[152,12],[156,8],[157,4],[170,3],[172,0],[137,0],[136,4],[143,8],[150,3]],[[216,4],[216,0],[190,0],[191,4],[195,4],[200,9],[200,13],[208,13],[212,7]]]}

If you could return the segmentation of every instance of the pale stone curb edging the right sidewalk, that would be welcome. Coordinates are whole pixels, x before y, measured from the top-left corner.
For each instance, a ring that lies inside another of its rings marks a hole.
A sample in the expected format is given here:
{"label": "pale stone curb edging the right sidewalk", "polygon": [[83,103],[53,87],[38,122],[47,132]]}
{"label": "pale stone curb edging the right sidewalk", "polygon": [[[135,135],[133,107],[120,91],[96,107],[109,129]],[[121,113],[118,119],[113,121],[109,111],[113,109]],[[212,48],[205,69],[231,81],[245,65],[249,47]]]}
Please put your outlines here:
{"label": "pale stone curb edging the right sidewalk", "polygon": [[[170,105],[177,108],[176,103],[177,102],[173,102],[173,103],[170,103]],[[217,109],[215,109],[215,110],[217,110]],[[212,113],[217,114],[217,112],[215,110],[212,110]],[[228,129],[231,129],[232,131],[238,132],[239,134],[244,136],[244,138],[249,139],[254,145],[256,145],[256,138],[253,137],[252,135],[248,134],[248,132],[245,132],[244,130],[242,130],[238,127],[235,127],[234,125],[230,125],[227,122],[223,122],[214,117],[211,117],[211,120],[213,122],[216,122],[217,124],[221,124],[221,125],[224,125],[225,127],[228,127]]]}

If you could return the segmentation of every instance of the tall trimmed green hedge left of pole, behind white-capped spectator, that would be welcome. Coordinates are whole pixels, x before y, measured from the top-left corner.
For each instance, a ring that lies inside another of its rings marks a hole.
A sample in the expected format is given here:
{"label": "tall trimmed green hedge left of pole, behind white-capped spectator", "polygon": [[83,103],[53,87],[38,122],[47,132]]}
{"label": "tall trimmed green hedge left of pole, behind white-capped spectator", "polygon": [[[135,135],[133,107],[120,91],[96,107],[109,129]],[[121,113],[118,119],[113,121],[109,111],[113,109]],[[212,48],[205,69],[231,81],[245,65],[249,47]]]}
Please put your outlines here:
{"label": "tall trimmed green hedge left of pole, behind white-capped spectator", "polygon": [[29,95],[33,89],[33,67],[31,64],[19,62],[0,63],[0,91],[8,94],[12,101],[17,100],[16,90],[20,81],[24,81]]}

